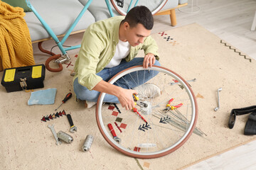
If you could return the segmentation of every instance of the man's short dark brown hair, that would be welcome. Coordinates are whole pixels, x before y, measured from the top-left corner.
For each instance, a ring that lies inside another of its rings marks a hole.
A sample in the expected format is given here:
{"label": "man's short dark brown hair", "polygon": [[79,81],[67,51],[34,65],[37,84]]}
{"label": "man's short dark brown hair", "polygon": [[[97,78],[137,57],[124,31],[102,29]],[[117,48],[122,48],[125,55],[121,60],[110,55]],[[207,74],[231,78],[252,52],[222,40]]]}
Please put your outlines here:
{"label": "man's short dark brown hair", "polygon": [[141,23],[144,28],[151,30],[154,26],[154,18],[146,6],[135,6],[125,16],[122,23],[127,22],[132,28]]}

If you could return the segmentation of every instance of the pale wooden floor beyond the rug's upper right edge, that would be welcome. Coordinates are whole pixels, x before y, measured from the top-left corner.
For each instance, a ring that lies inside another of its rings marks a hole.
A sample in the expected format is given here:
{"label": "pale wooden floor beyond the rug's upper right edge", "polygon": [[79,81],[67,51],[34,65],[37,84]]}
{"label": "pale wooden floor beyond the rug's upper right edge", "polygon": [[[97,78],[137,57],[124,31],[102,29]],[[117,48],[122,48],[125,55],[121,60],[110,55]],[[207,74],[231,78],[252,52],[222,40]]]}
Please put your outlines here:
{"label": "pale wooden floor beyond the rug's upper right edge", "polygon": [[[190,4],[191,0],[188,0]],[[190,6],[176,10],[176,27],[198,23],[256,60],[256,31],[250,30],[256,11],[255,0],[198,0],[198,6],[200,11],[197,13],[181,12],[191,11]],[[170,29],[169,16],[154,18],[153,33]]]}

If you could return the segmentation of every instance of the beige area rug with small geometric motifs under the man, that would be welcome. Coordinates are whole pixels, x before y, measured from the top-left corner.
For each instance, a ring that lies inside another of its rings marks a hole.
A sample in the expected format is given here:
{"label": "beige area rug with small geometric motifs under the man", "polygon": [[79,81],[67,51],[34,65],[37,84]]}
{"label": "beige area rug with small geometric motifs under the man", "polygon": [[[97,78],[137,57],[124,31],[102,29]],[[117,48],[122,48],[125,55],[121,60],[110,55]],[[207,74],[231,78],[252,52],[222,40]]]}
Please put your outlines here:
{"label": "beige area rug with small geometric motifs under the man", "polygon": [[[255,136],[243,135],[247,115],[238,116],[232,130],[228,128],[228,118],[233,108],[255,105],[255,61],[245,60],[198,24],[165,30],[152,36],[159,45],[162,66],[186,80],[196,79],[190,84],[198,101],[197,127],[206,133],[206,138],[191,135],[185,145],[165,157],[134,159],[117,152],[105,142],[97,128],[95,107],[85,109],[82,102],[75,101],[75,97],[58,111],[64,109],[72,115],[78,132],[71,134],[68,131],[70,125],[66,116],[41,121],[43,116],[55,113],[65,94],[73,92],[70,72],[75,56],[71,56],[72,62],[63,65],[63,72],[46,72],[43,89],[57,88],[53,105],[28,106],[31,92],[7,94],[0,86],[0,169],[181,169],[254,139]],[[215,112],[216,91],[220,87],[223,89],[220,91],[220,109]],[[55,125],[56,132],[68,132],[74,141],[55,145],[47,127],[49,124]],[[87,135],[95,138],[90,151],[82,152]]]}

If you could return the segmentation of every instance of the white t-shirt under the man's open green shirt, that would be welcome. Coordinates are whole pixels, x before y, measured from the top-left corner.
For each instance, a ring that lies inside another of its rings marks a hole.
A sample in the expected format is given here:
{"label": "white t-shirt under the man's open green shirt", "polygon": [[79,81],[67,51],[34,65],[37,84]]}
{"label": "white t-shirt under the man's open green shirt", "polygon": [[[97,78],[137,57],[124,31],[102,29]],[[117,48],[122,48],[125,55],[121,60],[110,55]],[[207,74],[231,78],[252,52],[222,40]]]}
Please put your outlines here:
{"label": "white t-shirt under the man's open green shirt", "polygon": [[120,64],[122,59],[127,57],[129,55],[131,45],[129,45],[129,42],[124,42],[122,40],[118,41],[118,44],[116,46],[116,51],[114,52],[114,57],[112,60],[110,60],[110,63],[107,64],[107,68],[112,68]]}

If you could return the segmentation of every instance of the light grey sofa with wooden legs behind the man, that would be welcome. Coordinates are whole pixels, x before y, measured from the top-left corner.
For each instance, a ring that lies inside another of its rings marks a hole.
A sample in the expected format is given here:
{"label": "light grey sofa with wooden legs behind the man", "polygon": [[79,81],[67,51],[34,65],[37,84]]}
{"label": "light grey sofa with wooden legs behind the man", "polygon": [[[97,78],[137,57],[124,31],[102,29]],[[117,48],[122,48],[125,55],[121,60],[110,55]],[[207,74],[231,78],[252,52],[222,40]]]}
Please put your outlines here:
{"label": "light grey sofa with wooden legs behind the man", "polygon": [[[83,8],[83,4],[86,4],[87,0],[30,0],[30,2],[43,20],[52,28],[55,35],[63,35],[75,21],[75,18],[78,16]],[[169,0],[161,11],[174,9],[175,14],[175,8],[181,4],[186,4],[186,2],[187,0]],[[119,15],[113,7],[112,11],[114,15]],[[173,16],[175,16],[174,14]],[[28,25],[32,42],[40,42],[50,38],[50,35],[46,32],[46,29],[43,28],[33,12],[26,12],[24,18]],[[110,18],[105,0],[93,0],[88,10],[85,11],[85,14],[78,22],[78,25],[75,26],[73,33],[82,32],[90,26],[90,24],[105,18]],[[174,17],[174,19],[176,20],[176,17]],[[175,26],[175,24],[171,25]]]}

